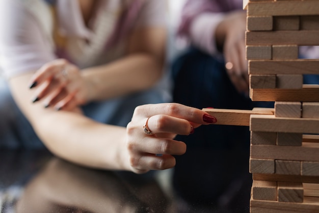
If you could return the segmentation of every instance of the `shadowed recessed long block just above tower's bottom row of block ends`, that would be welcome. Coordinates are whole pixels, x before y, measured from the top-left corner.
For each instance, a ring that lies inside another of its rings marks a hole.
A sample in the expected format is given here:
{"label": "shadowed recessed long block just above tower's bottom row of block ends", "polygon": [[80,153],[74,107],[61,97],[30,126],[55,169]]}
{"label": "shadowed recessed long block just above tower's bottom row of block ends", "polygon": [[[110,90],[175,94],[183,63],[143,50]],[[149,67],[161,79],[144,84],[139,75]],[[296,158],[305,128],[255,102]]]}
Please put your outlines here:
{"label": "shadowed recessed long block just above tower's bottom row of block ends", "polygon": [[315,177],[315,176],[302,176],[302,175],[279,175],[279,174],[257,174],[257,173],[253,173],[253,180],[319,183],[319,178],[318,177]]}

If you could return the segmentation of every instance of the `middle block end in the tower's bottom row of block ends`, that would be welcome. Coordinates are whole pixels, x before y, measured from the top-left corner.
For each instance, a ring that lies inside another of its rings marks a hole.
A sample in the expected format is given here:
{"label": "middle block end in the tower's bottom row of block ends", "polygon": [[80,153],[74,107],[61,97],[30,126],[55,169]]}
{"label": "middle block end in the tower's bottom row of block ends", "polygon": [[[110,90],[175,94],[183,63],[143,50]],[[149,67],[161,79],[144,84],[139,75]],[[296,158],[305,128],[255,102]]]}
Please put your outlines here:
{"label": "middle block end in the tower's bottom row of block ends", "polygon": [[279,202],[303,202],[304,188],[302,183],[277,182],[277,187]]}

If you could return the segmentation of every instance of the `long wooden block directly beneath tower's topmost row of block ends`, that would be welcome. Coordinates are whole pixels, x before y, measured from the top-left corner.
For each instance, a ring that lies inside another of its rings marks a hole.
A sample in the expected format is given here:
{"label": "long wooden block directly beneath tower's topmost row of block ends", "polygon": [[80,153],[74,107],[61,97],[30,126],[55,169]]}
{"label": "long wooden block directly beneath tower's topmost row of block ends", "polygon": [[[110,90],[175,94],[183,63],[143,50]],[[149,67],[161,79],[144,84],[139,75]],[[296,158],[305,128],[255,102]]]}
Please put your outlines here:
{"label": "long wooden block directly beneath tower's topmost row of block ends", "polygon": [[317,30],[249,31],[246,32],[246,45],[312,46],[319,44],[317,35]]}

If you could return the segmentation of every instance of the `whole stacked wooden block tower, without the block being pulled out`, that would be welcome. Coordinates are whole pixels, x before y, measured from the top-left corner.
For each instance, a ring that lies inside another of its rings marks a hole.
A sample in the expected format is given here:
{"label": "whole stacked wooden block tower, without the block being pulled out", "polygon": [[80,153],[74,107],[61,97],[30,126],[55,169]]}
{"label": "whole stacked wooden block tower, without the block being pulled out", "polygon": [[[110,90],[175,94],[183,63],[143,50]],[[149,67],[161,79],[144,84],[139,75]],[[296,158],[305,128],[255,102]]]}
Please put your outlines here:
{"label": "whole stacked wooden block tower, without the block being pulled out", "polygon": [[250,116],[251,213],[319,212],[319,1],[250,0],[246,53],[253,101],[275,101],[274,114]]}

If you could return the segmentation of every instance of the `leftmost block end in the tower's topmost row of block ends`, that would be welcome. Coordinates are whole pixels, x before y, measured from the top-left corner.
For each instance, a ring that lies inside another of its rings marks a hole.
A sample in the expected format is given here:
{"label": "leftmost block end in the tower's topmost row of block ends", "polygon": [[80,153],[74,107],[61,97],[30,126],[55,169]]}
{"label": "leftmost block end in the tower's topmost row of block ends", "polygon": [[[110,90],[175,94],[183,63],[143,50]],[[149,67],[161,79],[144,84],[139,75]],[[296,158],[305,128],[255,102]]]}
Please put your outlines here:
{"label": "leftmost block end in the tower's topmost row of block ends", "polygon": [[247,16],[248,31],[273,30],[273,16]]}

